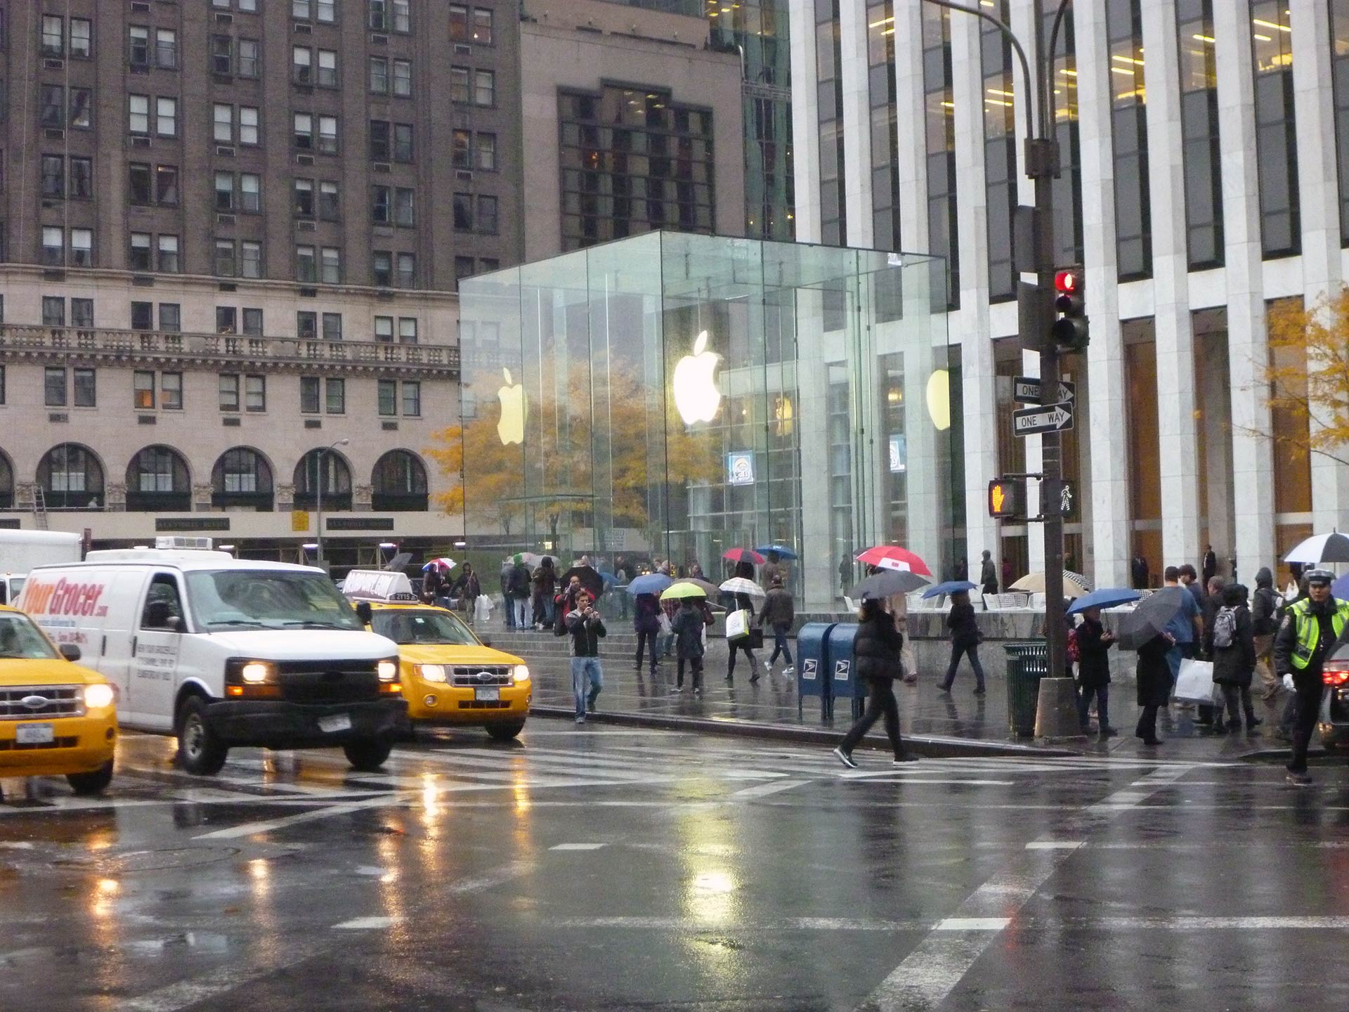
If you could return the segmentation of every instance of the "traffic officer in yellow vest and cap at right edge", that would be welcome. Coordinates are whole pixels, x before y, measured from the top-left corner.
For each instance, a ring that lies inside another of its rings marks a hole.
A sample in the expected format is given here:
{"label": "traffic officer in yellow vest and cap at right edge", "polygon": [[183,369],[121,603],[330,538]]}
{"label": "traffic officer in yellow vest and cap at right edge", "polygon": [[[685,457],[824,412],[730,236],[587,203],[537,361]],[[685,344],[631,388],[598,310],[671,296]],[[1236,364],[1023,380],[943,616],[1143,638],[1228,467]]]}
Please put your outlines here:
{"label": "traffic officer in yellow vest and cap at right edge", "polygon": [[1321,715],[1321,665],[1334,646],[1345,625],[1349,625],[1349,600],[1330,596],[1336,575],[1329,569],[1303,573],[1307,596],[1290,605],[1273,640],[1275,671],[1291,675],[1298,692],[1298,722],[1292,731],[1292,762],[1288,764],[1288,783],[1306,785],[1307,746],[1311,731]]}

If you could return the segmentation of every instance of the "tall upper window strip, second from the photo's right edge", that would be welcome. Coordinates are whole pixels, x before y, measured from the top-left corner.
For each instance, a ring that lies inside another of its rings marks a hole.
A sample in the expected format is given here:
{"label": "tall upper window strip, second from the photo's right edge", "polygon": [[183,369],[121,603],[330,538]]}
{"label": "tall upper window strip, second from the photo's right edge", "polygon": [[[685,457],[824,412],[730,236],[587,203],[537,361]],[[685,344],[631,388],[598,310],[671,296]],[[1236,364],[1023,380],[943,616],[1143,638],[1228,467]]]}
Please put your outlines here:
{"label": "tall upper window strip, second from the photo's right edge", "polygon": [[1260,246],[1265,256],[1291,256],[1302,251],[1291,16],[1284,3],[1251,0],[1251,20]]}

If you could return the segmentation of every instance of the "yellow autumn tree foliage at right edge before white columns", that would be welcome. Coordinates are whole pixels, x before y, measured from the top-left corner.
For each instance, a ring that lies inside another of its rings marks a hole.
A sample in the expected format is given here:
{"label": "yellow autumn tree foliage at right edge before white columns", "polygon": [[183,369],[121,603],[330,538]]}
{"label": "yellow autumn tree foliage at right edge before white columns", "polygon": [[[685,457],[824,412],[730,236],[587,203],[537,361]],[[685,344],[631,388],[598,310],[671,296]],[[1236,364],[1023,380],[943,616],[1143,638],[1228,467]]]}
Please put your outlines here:
{"label": "yellow autumn tree foliage at right edge before white columns", "polygon": [[1307,309],[1300,300],[1269,310],[1268,436],[1295,456],[1349,464],[1349,287]]}

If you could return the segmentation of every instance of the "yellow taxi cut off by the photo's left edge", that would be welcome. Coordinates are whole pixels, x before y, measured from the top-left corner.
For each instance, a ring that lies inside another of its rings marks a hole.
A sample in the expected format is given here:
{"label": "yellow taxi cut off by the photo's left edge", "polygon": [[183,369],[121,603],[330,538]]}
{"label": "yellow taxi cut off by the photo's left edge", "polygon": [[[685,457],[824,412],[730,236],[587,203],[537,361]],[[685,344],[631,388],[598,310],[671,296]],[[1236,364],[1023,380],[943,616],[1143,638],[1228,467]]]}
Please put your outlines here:
{"label": "yellow taxi cut off by the photo's left edge", "polygon": [[63,776],[77,795],[112,780],[116,694],[22,611],[0,606],[0,777]]}

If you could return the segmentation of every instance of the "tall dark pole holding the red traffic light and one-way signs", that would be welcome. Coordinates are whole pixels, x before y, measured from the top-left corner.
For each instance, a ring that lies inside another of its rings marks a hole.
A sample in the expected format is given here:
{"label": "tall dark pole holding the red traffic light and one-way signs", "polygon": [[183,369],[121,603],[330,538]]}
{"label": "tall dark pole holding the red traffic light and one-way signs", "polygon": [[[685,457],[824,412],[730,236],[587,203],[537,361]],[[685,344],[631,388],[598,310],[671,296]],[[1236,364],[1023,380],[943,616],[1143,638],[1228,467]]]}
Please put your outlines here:
{"label": "tall dark pole holding the red traffic light and one-way signs", "polygon": [[[1054,0],[1051,0],[1052,3]],[[1033,333],[1021,335],[1024,347],[1040,352],[1040,389],[1056,390],[1062,379],[1059,366],[1059,345],[1051,336],[1054,320],[1054,179],[1059,175],[1059,142],[1054,127],[1054,51],[1058,46],[1063,15],[1072,0],[1059,0],[1050,38],[1044,36],[1045,0],[1035,0],[1035,61],[1028,61],[1025,50],[1012,30],[1001,20],[978,7],[969,7],[952,0],[925,0],[925,3],[960,11],[996,24],[1016,50],[1025,76],[1025,85],[1035,97],[1032,115],[1031,96],[1018,96],[1027,111],[1025,174],[1035,181],[1033,256],[1036,290],[1031,297],[1036,301],[1032,313],[1023,318],[1033,318]],[[1033,72],[1033,73],[1032,73]],[[1037,127],[1037,128],[1036,128]],[[1023,286],[1023,291],[1025,286]],[[1048,646],[1048,676],[1062,677],[1067,667],[1067,629],[1063,622],[1063,460],[1059,432],[1045,432],[1040,436],[1041,472],[1040,513],[1044,532],[1044,638]]]}

